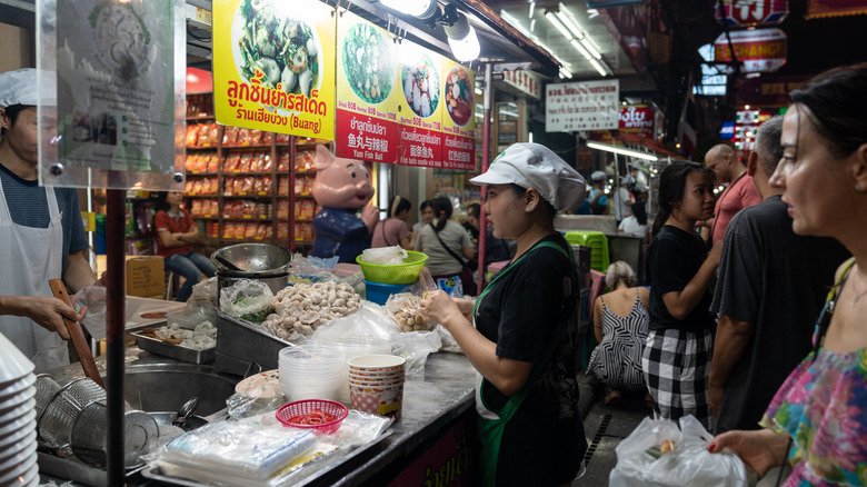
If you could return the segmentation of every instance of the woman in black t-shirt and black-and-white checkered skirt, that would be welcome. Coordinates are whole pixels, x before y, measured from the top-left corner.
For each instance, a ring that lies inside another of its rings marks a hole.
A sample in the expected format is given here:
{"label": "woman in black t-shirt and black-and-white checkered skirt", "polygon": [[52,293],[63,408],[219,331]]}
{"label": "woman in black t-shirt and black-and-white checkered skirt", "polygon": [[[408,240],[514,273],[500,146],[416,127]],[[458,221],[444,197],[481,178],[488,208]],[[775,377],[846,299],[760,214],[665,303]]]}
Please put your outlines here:
{"label": "woman in black t-shirt and black-and-white checkered skirt", "polygon": [[721,242],[708,254],[695,232],[714,215],[714,173],[678,161],[659,179],[659,212],[648,262],[650,332],[641,357],[647,388],[662,418],[692,415],[709,427],[707,382],[714,340],[708,287]]}

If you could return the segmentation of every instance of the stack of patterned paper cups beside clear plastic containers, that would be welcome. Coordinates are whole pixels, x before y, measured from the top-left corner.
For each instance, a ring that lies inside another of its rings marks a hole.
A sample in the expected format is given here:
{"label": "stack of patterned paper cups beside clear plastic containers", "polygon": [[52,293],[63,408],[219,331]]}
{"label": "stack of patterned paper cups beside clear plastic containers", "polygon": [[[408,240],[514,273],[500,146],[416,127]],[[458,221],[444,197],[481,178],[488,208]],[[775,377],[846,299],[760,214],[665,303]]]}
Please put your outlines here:
{"label": "stack of patterned paper cups beside clear plastic containers", "polygon": [[368,355],[350,359],[348,367],[352,409],[399,419],[406,360],[393,355]]}

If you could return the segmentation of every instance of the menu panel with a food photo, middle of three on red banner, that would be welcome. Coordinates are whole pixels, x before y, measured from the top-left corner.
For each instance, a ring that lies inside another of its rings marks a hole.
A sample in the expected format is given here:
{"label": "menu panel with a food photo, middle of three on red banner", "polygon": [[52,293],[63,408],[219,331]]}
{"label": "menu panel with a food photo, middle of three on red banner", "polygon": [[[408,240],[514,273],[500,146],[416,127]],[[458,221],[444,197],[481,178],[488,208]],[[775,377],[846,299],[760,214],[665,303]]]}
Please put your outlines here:
{"label": "menu panel with a food photo, middle of three on red banner", "polygon": [[442,57],[405,42],[398,46],[400,155],[403,166],[442,166]]}

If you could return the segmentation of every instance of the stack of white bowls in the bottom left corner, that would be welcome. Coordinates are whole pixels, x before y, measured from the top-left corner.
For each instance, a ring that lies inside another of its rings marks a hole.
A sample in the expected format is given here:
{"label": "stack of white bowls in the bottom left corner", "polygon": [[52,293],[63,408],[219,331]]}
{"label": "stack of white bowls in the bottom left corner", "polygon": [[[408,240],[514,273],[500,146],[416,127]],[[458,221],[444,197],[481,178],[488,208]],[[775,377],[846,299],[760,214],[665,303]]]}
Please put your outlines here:
{"label": "stack of white bowls in the bottom left corner", "polygon": [[0,485],[39,485],[33,362],[0,334]]}

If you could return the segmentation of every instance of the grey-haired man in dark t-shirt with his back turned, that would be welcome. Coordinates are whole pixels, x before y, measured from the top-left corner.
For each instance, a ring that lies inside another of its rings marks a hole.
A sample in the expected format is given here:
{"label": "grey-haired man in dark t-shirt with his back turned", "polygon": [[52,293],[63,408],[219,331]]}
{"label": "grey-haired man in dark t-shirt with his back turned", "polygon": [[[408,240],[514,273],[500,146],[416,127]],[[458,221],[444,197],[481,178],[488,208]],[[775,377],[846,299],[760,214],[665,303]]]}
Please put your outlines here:
{"label": "grey-haired man in dark t-shirt with his back turned", "polygon": [[761,125],[747,172],[765,198],[740,211],[722,244],[710,306],[719,312],[708,404],[717,434],[759,429],[765,408],[810,350],[813,325],[837,266],[848,257],[830,238],[799,237],[768,179],[783,149],[783,117]]}

